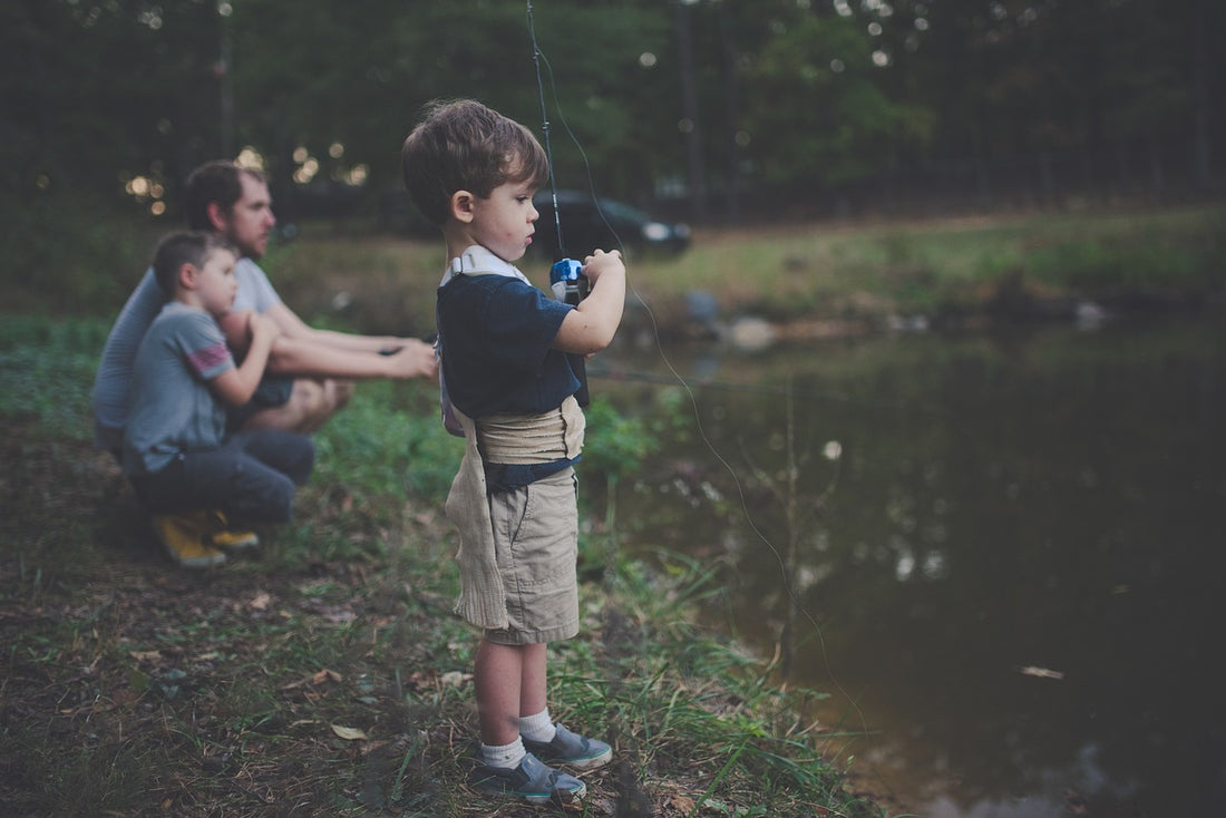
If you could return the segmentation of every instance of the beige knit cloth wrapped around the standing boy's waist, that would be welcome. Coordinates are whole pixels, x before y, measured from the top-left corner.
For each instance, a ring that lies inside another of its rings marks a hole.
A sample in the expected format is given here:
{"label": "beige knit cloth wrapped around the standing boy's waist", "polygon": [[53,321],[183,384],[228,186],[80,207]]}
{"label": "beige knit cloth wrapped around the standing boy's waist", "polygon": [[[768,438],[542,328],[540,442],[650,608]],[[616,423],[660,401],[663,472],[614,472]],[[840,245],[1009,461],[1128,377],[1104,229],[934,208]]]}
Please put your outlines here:
{"label": "beige knit cloth wrapped around the standing boy's waist", "polygon": [[477,421],[482,457],[497,464],[538,464],[577,457],[584,448],[584,411],[568,397],[541,415],[492,415]]}

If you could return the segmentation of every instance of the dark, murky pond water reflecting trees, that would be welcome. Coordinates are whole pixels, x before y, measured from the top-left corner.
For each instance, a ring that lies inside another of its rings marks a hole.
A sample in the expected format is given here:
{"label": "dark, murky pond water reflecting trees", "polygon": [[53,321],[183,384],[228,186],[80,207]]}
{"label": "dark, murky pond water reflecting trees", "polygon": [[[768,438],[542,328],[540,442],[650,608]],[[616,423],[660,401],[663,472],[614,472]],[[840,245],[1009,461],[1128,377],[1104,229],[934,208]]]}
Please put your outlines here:
{"label": "dark, murky pond water reflecting trees", "polygon": [[764,656],[794,621],[858,786],[926,818],[1221,814],[1220,316],[664,356],[592,362],[690,422],[622,484],[622,545],[722,564],[706,614]]}

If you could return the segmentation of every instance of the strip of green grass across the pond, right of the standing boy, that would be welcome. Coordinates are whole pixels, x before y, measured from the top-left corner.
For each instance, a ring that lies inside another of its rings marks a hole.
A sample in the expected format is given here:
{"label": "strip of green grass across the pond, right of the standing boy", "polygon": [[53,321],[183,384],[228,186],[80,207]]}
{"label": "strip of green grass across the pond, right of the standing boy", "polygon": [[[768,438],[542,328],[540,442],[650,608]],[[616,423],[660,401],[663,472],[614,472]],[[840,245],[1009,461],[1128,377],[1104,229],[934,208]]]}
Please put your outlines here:
{"label": "strip of green grass across the pond, right of the standing boy", "polygon": [[[1040,292],[1220,289],[1222,207],[702,234],[639,270],[663,303],[694,288],[779,319],[937,313],[981,304],[1010,275]],[[650,299],[649,299],[650,300]]]}

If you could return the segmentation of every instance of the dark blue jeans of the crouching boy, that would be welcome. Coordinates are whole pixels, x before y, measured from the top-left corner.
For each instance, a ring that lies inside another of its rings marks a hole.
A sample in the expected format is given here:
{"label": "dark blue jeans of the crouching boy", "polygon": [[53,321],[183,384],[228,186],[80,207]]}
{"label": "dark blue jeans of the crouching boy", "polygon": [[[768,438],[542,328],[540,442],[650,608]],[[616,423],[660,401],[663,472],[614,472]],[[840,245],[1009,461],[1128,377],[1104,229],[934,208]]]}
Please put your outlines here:
{"label": "dark blue jeans of the crouching boy", "polygon": [[288,522],[294,488],[315,466],[310,438],[280,429],[240,432],[216,449],[181,451],[159,472],[131,475],[153,514],[218,510],[243,525]]}

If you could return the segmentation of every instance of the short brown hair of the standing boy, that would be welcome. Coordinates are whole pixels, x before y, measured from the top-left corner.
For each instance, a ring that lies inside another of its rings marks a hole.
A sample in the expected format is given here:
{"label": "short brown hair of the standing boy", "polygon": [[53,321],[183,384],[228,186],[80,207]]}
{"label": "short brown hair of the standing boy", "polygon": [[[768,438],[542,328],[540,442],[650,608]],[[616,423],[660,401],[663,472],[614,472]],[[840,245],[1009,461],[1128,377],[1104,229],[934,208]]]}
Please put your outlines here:
{"label": "short brown hair of the standing boy", "polygon": [[436,227],[457,190],[487,199],[508,182],[542,188],[549,180],[549,159],[532,131],[474,99],[429,103],[400,161],[409,199]]}

